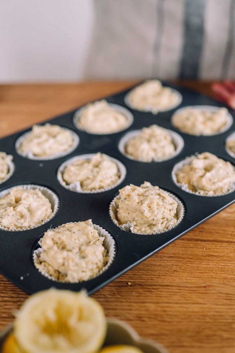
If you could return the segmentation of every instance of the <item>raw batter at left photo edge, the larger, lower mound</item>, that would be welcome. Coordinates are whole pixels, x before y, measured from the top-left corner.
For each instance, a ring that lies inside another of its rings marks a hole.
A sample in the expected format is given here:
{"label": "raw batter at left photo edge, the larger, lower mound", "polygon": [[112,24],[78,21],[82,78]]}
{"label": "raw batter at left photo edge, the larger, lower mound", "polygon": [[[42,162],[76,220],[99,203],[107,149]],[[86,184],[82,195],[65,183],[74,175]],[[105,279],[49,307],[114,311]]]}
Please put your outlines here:
{"label": "raw batter at left photo edge, the larger, lower mound", "polygon": [[36,226],[52,215],[49,200],[38,189],[15,186],[0,198],[0,226],[22,228]]}

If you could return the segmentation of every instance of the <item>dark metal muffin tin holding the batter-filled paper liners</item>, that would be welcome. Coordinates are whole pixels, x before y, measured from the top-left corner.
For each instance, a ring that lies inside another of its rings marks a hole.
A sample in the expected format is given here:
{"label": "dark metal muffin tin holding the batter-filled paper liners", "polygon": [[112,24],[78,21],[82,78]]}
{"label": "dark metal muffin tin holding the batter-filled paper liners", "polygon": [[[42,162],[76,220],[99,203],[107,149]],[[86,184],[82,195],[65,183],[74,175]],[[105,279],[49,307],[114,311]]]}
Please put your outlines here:
{"label": "dark metal muffin tin holding the batter-filled paper liners", "polygon": [[[171,170],[174,165],[195,152],[208,151],[234,164],[235,159],[225,150],[225,139],[235,129],[234,122],[229,130],[215,136],[197,137],[181,133],[170,123],[171,115],[176,109],[188,105],[221,106],[221,104],[185,88],[168,83],[163,83],[163,85],[177,89],[182,94],[183,100],[180,106],[167,112],[160,112],[157,115],[128,107],[125,104],[125,95],[129,90],[106,98],[108,102],[119,104],[132,112],[134,116],[133,124],[125,131],[108,135],[94,135],[80,131],[73,124],[73,116],[76,110],[48,120],[51,124],[58,124],[73,130],[79,136],[79,144],[76,149],[64,157],[39,161],[20,156],[15,149],[16,140],[30,129],[0,140],[0,151],[12,154],[15,166],[10,179],[0,185],[0,191],[15,185],[41,185],[52,190],[58,196],[60,202],[55,216],[42,226],[22,232],[0,230],[0,271],[18,287],[28,293],[34,293],[52,286],[73,291],[86,288],[88,293],[91,294],[234,203],[235,192],[219,197],[201,197],[181,190],[171,178]],[[231,114],[234,117],[234,114]],[[167,161],[150,163],[134,161],[122,155],[118,145],[124,134],[152,124],[157,124],[180,134],[185,143],[180,153]],[[99,151],[116,158],[126,167],[127,174],[120,185],[99,193],[79,193],[70,191],[59,183],[56,174],[62,163],[73,156]],[[123,231],[110,219],[109,204],[118,194],[118,190],[130,183],[140,185],[145,180],[173,193],[185,205],[184,219],[178,226],[168,232],[156,235],[133,234]],[[113,236],[116,256],[112,265],[94,279],[73,284],[55,282],[39,273],[32,262],[32,252],[38,247],[37,242],[44,232],[50,227],[57,227],[63,223],[88,219],[92,219],[93,223],[106,229]]]}

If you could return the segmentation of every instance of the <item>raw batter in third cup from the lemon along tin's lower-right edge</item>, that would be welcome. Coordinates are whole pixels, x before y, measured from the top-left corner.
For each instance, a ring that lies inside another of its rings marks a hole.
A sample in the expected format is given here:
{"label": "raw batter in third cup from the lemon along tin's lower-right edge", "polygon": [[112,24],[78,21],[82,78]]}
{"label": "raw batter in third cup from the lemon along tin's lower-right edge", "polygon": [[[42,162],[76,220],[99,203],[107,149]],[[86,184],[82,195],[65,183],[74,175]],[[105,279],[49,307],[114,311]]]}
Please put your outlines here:
{"label": "raw batter in third cup from the lemon along tin's lower-right edge", "polygon": [[177,182],[201,195],[227,193],[235,183],[235,170],[231,163],[204,152],[192,157],[192,161],[176,172]]}

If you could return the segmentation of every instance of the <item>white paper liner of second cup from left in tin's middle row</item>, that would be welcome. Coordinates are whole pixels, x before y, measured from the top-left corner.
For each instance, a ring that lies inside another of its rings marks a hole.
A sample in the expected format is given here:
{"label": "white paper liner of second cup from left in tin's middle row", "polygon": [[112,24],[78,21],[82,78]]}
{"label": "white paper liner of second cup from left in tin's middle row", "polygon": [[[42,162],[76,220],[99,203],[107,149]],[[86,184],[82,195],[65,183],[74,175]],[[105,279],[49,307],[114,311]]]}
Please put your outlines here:
{"label": "white paper liner of second cup from left in tin's middle row", "polygon": [[110,185],[106,188],[103,188],[103,189],[97,189],[97,190],[82,190],[82,187],[81,187],[81,184],[80,184],[80,181],[76,182],[76,183],[72,183],[70,185],[67,185],[66,182],[64,181],[63,179],[63,173],[64,173],[64,170],[65,168],[73,163],[74,161],[78,160],[78,159],[83,159],[83,160],[88,160],[90,158],[92,158],[93,156],[95,155],[95,153],[90,153],[90,154],[85,154],[85,155],[79,155],[79,156],[76,156],[76,157],[73,157],[73,158],[70,158],[69,160],[67,160],[66,162],[62,163],[61,166],[59,167],[58,169],[58,172],[57,172],[57,179],[59,180],[59,183],[64,186],[66,189],[68,190],[71,190],[71,191],[74,191],[74,192],[81,192],[81,193],[86,193],[86,194],[90,194],[90,193],[98,193],[98,192],[104,192],[104,191],[108,191],[108,190],[111,190],[111,189],[114,189],[114,187],[118,186],[119,184],[122,183],[122,181],[125,179],[126,177],[126,168],[125,166],[120,162],[118,161],[117,159],[113,158],[113,157],[110,157],[110,160],[113,161],[114,163],[117,164],[118,166],[118,169],[119,169],[119,172],[120,172],[120,178],[119,180],[113,184],[113,185]]}

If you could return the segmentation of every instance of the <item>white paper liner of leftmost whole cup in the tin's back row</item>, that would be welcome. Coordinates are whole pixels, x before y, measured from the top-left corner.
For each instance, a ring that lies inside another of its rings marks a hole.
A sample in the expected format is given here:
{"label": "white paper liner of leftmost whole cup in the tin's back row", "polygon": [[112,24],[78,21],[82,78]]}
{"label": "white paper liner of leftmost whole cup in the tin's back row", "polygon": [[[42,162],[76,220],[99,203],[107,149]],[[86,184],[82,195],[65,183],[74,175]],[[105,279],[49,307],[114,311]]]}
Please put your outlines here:
{"label": "white paper liner of leftmost whole cup in the tin's back row", "polygon": [[17,153],[22,157],[37,160],[37,161],[47,161],[47,160],[52,160],[52,159],[67,156],[68,154],[70,154],[71,152],[73,152],[77,148],[77,146],[79,144],[79,137],[74,131],[67,129],[66,127],[61,127],[61,128],[69,131],[73,136],[73,145],[69,149],[67,149],[66,151],[60,152],[60,153],[55,153],[51,156],[43,156],[43,157],[35,156],[31,151],[30,152],[21,152],[20,145],[22,144],[23,140],[28,136],[28,134],[31,133],[31,131],[28,131],[28,132],[25,132],[23,135],[21,135],[16,140],[15,148],[16,148]]}

